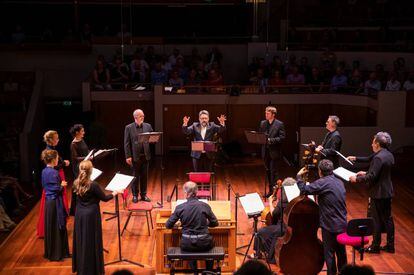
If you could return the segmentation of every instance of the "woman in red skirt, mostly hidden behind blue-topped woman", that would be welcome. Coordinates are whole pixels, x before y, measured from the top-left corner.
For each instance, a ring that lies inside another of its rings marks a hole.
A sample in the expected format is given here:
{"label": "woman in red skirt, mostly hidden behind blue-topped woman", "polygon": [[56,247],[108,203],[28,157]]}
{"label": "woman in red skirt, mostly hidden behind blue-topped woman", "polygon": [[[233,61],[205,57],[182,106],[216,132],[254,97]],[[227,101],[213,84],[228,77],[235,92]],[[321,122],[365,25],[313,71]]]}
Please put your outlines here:
{"label": "woman in red skirt, mostly hidden behind blue-topped woman", "polygon": [[[59,134],[54,130],[49,130],[43,135],[43,141],[46,143],[46,149],[49,150],[56,150],[56,147],[59,143]],[[59,173],[60,179],[65,181],[65,172],[63,171],[63,167],[68,166],[70,162],[68,160],[63,160],[59,156],[58,164],[55,166]],[[40,200],[40,213],[39,213],[39,220],[37,222],[37,237],[43,238],[45,235],[45,228],[44,228],[44,208],[45,208],[45,198],[46,194],[43,190],[42,192],[42,199]],[[65,206],[66,211],[69,210],[68,198],[66,196],[66,186],[63,187],[63,204]]]}

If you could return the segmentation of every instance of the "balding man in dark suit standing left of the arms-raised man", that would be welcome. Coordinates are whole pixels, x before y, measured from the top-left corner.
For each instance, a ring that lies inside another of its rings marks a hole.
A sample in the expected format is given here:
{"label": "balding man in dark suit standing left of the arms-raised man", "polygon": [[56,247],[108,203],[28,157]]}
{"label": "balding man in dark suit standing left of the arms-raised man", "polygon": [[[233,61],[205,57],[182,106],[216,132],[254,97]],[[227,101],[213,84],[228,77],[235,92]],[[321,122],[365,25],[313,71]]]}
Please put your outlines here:
{"label": "balding man in dark suit standing left of the arms-raised man", "polygon": [[144,122],[144,112],[137,109],[133,113],[134,122],[125,126],[124,151],[126,163],[132,167],[135,177],[132,183],[132,202],[138,202],[139,193],[143,201],[151,201],[147,197],[148,162],[151,159],[151,151],[148,142],[138,142],[138,134],[152,132],[151,124]]}

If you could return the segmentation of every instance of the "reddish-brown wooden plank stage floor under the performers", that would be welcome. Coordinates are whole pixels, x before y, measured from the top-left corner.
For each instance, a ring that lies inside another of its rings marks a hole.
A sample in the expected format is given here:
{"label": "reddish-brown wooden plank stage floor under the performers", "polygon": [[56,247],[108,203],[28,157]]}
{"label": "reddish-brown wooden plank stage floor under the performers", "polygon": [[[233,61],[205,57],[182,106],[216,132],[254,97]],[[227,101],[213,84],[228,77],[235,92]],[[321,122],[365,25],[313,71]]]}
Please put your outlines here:
{"label": "reddish-brown wooden plank stage floor under the performers", "polygon": [[[173,188],[177,179],[185,178],[185,173],[190,170],[189,157],[170,156],[165,160],[164,172],[164,200]],[[155,203],[160,198],[160,172],[157,165],[153,165],[148,186],[148,195]],[[293,176],[296,170],[283,167],[281,176]],[[105,178],[100,180],[105,184]],[[234,188],[240,194],[250,192],[263,192],[263,167],[256,159],[242,159],[235,164],[217,167],[218,199],[227,200],[227,185],[225,179],[231,181]],[[107,182],[107,181],[106,181]],[[396,228],[396,253],[381,253],[380,255],[365,254],[363,264],[371,265],[378,273],[411,273],[414,274],[414,188],[410,184],[408,176],[394,175],[396,197],[393,202],[393,213]],[[348,219],[366,216],[367,195],[364,186],[346,185]],[[179,197],[183,197],[181,186]],[[231,196],[234,211],[234,196]],[[165,203],[164,208],[170,204]],[[102,211],[112,211],[114,201],[101,203]],[[237,245],[247,244],[252,233],[252,221],[249,220],[239,204],[238,232],[245,233],[237,238]],[[153,219],[156,216],[153,212]],[[70,274],[71,259],[62,262],[49,262],[43,255],[43,240],[36,238],[36,224],[39,212],[39,204],[19,223],[17,228],[0,245],[0,274]],[[105,215],[103,215],[105,216]],[[121,212],[121,227],[126,220],[126,213]],[[155,220],[153,220],[155,224]],[[109,250],[105,253],[105,262],[118,258],[118,242],[116,221],[103,221],[104,247]],[[68,223],[69,244],[72,247],[73,217]],[[155,239],[154,232],[148,236],[145,217],[133,217],[128,225],[128,231],[122,237],[123,257],[145,265],[145,268],[135,267],[130,264],[117,264],[106,267],[106,273],[111,274],[115,270],[127,268],[134,274],[155,274]],[[385,236],[384,236],[385,237]],[[383,239],[384,240],[384,239]],[[351,248],[347,247],[348,261],[351,260]],[[243,261],[243,256],[237,256],[237,266]],[[359,258],[357,263],[360,264]],[[277,266],[272,266],[278,271]],[[321,274],[325,274],[322,272]]]}

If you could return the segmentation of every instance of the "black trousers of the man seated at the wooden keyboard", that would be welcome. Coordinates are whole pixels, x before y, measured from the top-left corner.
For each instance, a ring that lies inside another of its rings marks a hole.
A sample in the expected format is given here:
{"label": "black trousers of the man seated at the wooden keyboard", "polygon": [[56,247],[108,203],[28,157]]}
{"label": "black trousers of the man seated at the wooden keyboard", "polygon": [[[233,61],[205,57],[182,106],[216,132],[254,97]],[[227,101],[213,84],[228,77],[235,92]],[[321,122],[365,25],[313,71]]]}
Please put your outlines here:
{"label": "black trousers of the man seated at the wooden keyboard", "polygon": [[[203,238],[181,238],[181,249],[183,251],[190,252],[202,252],[208,251],[214,247],[213,238],[210,235],[207,235]],[[213,270],[214,262],[211,260],[206,260],[206,269]],[[194,270],[194,274],[197,274],[197,261],[190,261],[190,267]]]}

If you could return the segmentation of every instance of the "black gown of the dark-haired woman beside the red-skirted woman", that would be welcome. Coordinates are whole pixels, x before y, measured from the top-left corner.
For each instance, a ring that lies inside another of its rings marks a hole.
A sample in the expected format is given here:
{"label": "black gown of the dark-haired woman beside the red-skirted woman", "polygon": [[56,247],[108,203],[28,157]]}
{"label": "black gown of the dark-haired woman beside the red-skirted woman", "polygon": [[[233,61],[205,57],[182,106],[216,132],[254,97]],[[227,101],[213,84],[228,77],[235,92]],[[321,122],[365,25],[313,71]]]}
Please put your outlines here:
{"label": "black gown of the dark-haired woman beside the red-skirted woman", "polygon": [[[73,180],[79,175],[79,163],[89,154],[88,145],[82,139],[80,141],[72,141],[70,144],[70,158],[72,163]],[[69,214],[74,216],[76,212],[76,194],[72,192]]]}

